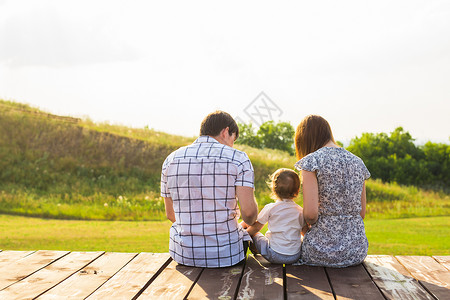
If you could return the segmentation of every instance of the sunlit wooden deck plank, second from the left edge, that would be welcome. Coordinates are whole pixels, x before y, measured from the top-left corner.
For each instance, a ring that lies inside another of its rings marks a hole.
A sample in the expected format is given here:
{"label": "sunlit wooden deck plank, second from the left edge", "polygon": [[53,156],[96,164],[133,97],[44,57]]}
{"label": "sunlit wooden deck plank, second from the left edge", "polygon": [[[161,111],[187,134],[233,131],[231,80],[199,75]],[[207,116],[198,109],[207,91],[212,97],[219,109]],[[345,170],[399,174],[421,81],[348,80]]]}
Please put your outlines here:
{"label": "sunlit wooden deck plank, second from the left edge", "polygon": [[0,290],[44,268],[68,253],[69,251],[39,250],[14,264],[8,264],[0,268]]}

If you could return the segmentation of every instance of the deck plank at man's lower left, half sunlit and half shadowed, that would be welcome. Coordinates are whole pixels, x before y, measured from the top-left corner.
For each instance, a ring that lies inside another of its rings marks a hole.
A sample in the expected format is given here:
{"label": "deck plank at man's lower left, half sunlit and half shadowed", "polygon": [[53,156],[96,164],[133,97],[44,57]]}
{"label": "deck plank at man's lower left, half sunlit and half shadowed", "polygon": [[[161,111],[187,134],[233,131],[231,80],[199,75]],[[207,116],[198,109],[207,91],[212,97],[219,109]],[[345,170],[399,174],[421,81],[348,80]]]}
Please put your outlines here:
{"label": "deck plank at man's lower left, half sunlit and half shadowed", "polygon": [[202,271],[203,268],[183,266],[172,261],[139,299],[184,299]]}

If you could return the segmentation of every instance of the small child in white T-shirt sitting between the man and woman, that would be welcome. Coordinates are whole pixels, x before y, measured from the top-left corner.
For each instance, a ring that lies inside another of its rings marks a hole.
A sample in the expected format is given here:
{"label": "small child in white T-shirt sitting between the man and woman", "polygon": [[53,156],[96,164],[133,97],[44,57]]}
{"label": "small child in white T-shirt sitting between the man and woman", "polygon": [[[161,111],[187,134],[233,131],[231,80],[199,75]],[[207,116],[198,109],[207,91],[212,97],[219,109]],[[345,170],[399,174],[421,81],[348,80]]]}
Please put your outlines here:
{"label": "small child in white T-shirt sitting between the man and woman", "polygon": [[[293,201],[300,190],[300,179],[290,169],[278,169],[270,178],[275,202],[264,206],[253,225],[241,224],[265,259],[271,263],[292,264],[300,258],[301,232],[305,225],[303,209]],[[267,222],[264,236],[259,231]]]}

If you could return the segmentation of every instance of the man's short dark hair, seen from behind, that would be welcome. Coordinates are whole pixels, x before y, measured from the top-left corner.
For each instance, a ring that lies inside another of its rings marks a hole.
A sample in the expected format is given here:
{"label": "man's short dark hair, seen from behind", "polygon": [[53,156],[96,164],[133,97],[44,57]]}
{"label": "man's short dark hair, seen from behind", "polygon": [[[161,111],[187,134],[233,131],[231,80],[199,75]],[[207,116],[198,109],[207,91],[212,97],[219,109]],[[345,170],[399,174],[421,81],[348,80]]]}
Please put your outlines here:
{"label": "man's short dark hair, seen from behind", "polygon": [[220,132],[229,128],[228,133],[232,135],[236,133],[236,139],[239,137],[239,127],[230,114],[217,110],[210,113],[202,121],[200,126],[200,135],[218,136]]}

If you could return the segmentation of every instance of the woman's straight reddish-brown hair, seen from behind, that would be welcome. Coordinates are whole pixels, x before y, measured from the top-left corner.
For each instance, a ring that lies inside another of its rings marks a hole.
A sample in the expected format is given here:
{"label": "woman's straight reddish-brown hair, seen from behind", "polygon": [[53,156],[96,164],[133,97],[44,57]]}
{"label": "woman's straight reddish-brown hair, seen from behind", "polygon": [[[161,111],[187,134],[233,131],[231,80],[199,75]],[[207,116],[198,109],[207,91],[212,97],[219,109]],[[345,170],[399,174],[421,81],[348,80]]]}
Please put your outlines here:
{"label": "woman's straight reddish-brown hair, seen from behind", "polygon": [[327,120],[317,115],[306,116],[295,131],[297,159],[302,159],[309,153],[322,148],[329,141],[336,143]]}

